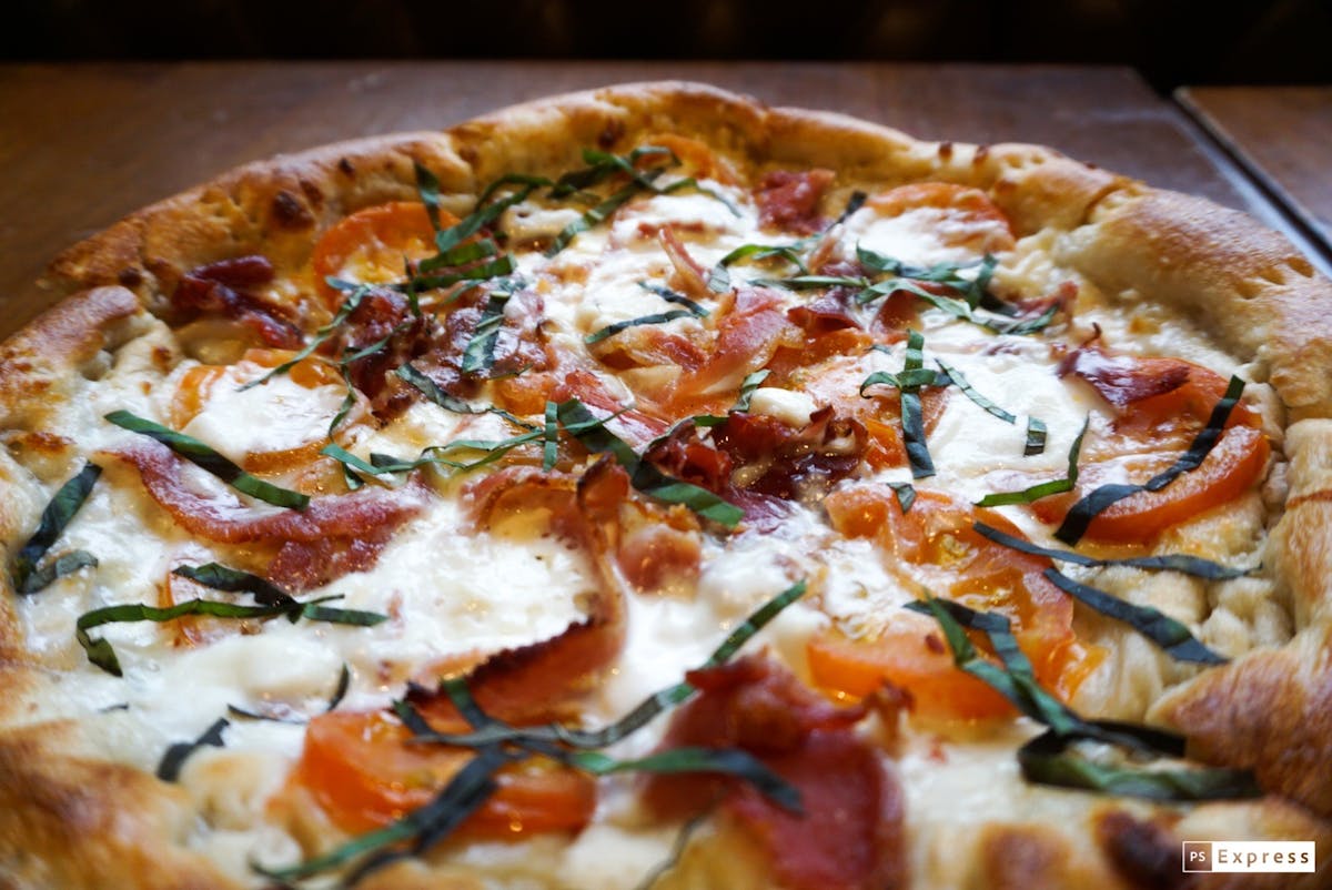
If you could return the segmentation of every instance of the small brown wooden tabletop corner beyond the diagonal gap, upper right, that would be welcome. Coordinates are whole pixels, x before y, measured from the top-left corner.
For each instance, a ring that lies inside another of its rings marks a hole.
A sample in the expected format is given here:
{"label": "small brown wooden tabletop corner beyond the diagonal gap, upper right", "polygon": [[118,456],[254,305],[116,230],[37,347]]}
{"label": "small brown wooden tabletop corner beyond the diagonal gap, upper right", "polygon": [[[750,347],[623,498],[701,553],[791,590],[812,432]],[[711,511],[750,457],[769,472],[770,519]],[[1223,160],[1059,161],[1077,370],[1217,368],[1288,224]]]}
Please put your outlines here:
{"label": "small brown wooden tabletop corner beyond the diagonal gap, upper right", "polygon": [[1185,87],[1176,97],[1332,250],[1332,87]]}

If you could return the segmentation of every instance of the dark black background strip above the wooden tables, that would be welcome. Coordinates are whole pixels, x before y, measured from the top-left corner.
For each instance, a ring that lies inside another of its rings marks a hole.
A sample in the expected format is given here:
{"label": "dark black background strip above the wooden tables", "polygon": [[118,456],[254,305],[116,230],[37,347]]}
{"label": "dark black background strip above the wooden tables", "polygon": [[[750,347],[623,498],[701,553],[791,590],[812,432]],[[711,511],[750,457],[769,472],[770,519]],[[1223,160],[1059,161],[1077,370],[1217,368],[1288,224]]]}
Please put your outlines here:
{"label": "dark black background strip above the wooden tables", "polygon": [[1332,81],[1332,0],[5,0],[7,60],[769,59],[1128,64]]}

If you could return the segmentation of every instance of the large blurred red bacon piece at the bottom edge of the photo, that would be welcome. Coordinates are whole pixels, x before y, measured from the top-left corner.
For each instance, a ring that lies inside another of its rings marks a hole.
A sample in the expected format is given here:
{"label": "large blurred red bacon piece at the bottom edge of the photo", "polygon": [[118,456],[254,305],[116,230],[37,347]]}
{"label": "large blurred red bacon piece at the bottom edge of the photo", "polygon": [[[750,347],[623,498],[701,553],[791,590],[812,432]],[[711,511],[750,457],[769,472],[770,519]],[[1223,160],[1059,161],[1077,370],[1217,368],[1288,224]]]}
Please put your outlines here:
{"label": "large blurred red bacon piece at the bottom edge of the photo", "polygon": [[671,719],[665,749],[741,747],[801,793],[803,815],[747,785],[705,775],[653,777],[647,803],[666,817],[723,809],[794,890],[883,890],[906,882],[903,799],[879,754],[854,731],[864,707],[834,707],[773,661],[747,657],[693,671],[701,690]]}

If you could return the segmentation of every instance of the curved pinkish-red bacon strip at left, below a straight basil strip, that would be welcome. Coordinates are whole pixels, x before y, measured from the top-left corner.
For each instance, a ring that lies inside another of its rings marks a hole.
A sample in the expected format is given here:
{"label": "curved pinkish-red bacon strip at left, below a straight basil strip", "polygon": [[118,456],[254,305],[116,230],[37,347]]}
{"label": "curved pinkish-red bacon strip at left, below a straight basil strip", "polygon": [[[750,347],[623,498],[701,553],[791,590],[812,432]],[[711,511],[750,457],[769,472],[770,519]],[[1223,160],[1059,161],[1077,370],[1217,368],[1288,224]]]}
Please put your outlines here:
{"label": "curved pinkish-red bacon strip at left, below a straight basil strip", "polygon": [[394,490],[366,486],[350,494],[316,497],[301,512],[250,508],[190,489],[182,474],[184,461],[160,442],[145,438],[111,456],[139,470],[148,493],[181,528],[222,544],[377,537],[392,533],[425,506],[424,486],[410,482]]}

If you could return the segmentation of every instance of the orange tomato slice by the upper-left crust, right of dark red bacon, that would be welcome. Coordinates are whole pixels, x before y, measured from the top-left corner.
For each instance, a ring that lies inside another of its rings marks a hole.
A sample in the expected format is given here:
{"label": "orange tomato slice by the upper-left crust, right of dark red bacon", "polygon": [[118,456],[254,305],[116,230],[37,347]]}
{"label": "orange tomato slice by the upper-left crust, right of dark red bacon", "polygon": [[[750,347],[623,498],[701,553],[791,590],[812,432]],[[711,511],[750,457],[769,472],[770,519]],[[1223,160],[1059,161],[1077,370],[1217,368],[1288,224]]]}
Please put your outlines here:
{"label": "orange tomato slice by the upper-left crust, right of dark red bacon", "polygon": [[[454,225],[458,217],[440,211],[440,225]],[[354,278],[369,284],[396,281],[402,277],[402,260],[434,256],[434,228],[425,205],[418,201],[376,204],[340,220],[320,237],[310,256],[310,265],[320,292],[329,305],[342,294],[330,288],[328,276],[345,276],[354,266]]]}

